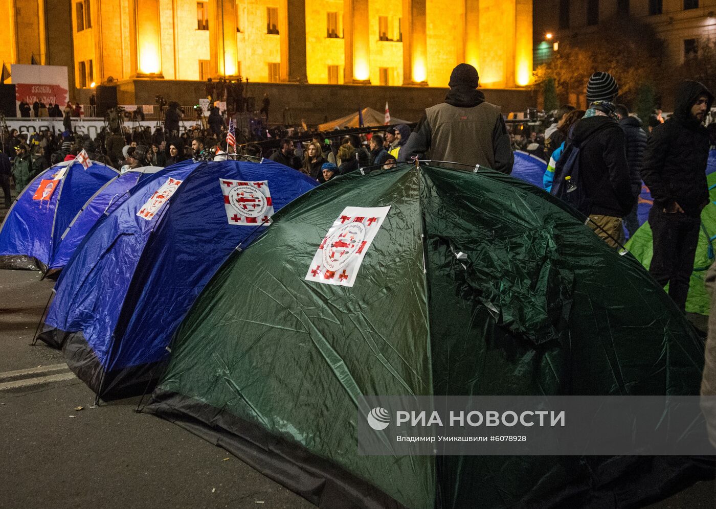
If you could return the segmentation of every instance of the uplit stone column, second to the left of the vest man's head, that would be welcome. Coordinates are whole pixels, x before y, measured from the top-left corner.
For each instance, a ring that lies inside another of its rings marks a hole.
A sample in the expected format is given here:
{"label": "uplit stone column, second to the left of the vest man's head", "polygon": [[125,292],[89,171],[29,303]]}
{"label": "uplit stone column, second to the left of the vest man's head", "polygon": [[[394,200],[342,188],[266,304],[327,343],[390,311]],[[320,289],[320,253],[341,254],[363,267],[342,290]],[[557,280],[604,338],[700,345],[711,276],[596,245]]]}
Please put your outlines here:
{"label": "uplit stone column, second to the left of the vest man's head", "polygon": [[344,0],[343,42],[345,84],[370,84],[368,0]]}

